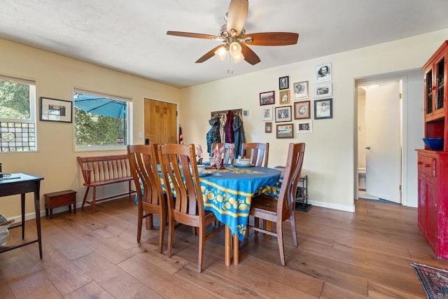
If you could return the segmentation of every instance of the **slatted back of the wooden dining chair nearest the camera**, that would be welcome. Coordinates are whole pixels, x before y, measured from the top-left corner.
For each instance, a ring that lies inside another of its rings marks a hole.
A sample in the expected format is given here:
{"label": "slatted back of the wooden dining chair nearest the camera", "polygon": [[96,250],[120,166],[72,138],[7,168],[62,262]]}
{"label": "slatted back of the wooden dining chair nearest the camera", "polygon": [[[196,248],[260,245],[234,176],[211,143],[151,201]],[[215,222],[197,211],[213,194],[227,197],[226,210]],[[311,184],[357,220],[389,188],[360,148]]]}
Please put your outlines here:
{"label": "slatted back of the wooden dining chair nearest the camera", "polygon": [[159,146],[169,210],[176,221],[198,226],[204,218],[204,202],[195,157],[194,144]]}

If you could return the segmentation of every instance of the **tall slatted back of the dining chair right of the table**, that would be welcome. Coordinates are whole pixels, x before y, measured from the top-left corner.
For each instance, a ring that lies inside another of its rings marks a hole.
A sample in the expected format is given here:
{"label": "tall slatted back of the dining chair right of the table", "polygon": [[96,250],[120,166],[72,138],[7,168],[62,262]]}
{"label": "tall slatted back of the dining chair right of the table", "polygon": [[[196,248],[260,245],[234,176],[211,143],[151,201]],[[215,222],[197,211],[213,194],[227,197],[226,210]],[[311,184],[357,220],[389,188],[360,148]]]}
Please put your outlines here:
{"label": "tall slatted back of the dining chair right of the table", "polygon": [[281,183],[279,204],[277,205],[277,217],[279,221],[288,219],[295,209],[295,194],[297,183],[302,172],[305,144],[290,143],[288,147],[288,159],[286,160],[285,175]]}

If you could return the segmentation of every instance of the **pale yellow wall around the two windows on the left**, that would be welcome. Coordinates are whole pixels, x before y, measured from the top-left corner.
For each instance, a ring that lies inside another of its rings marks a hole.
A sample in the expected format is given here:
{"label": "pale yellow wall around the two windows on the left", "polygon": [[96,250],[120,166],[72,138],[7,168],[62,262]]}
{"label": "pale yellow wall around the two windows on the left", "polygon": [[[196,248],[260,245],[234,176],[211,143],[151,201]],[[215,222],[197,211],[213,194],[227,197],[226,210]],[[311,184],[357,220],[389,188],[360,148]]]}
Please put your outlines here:
{"label": "pale yellow wall around the two windows on the left", "polygon": [[[85,90],[132,98],[134,144],[144,143],[143,139],[137,138],[137,132],[144,131],[144,97],[176,103],[179,103],[179,99],[181,99],[181,90],[178,88],[2,39],[0,39],[0,66],[2,75],[35,80],[37,99],[43,96],[72,100],[75,86]],[[76,156],[126,153],[125,149],[106,152],[75,152],[73,150],[72,123],[38,120],[37,141],[38,151],[34,153],[0,153],[3,172],[28,172],[36,176],[43,176],[41,195],[72,189],[78,191],[78,202],[82,201],[85,188],[82,186],[83,181]],[[99,188],[98,197],[102,197],[104,193],[116,194],[119,192],[116,189],[120,186],[108,187],[111,188],[107,188],[107,190]],[[124,187],[125,185],[123,185]],[[43,206],[43,196],[41,196],[41,209]],[[31,194],[27,194],[26,208],[27,214],[30,214],[30,217],[34,216]],[[8,218],[20,215],[20,197],[0,198],[0,214]]]}

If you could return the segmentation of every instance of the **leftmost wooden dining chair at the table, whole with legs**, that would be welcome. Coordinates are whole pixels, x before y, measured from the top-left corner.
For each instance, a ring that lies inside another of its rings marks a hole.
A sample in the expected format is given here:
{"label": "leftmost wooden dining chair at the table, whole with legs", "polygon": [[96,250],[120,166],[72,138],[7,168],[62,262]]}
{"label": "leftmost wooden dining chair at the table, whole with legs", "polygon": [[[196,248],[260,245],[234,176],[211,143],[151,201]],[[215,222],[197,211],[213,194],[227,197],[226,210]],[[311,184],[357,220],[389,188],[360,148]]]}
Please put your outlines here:
{"label": "leftmost wooden dining chair at the table, whole with legs", "polygon": [[159,215],[159,252],[162,253],[167,223],[167,203],[158,173],[157,147],[154,144],[127,146],[127,155],[137,189],[139,205],[137,242],[140,242],[141,239],[143,219],[146,219],[146,229],[151,230],[153,215]]}

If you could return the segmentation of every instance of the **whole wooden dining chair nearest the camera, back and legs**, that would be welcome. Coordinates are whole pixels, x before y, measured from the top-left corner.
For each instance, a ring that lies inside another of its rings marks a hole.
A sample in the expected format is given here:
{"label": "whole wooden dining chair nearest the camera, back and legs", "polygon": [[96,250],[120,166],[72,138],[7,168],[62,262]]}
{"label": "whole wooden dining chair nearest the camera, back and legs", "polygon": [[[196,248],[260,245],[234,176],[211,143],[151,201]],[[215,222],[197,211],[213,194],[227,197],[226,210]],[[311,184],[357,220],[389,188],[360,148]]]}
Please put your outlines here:
{"label": "whole wooden dining chair nearest the camera, back and legs", "polygon": [[159,146],[158,151],[165,186],[170,186],[165,188],[168,201],[168,256],[172,256],[175,222],[197,228],[199,230],[197,271],[202,272],[205,241],[218,230],[206,234],[206,226],[214,223],[216,217],[213,212],[204,210],[195,146],[165,144]]}

